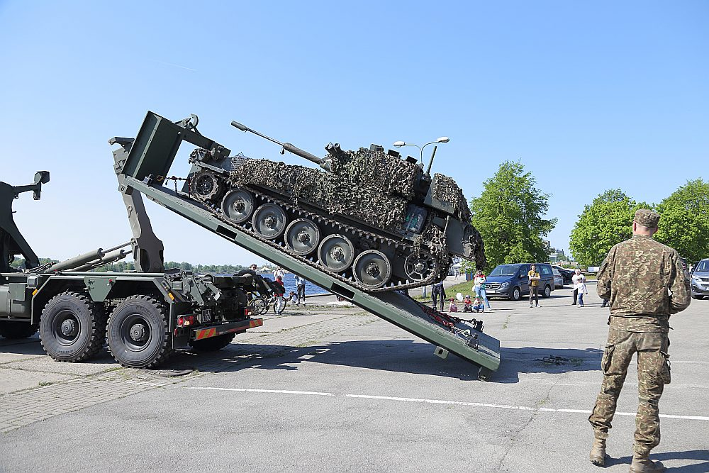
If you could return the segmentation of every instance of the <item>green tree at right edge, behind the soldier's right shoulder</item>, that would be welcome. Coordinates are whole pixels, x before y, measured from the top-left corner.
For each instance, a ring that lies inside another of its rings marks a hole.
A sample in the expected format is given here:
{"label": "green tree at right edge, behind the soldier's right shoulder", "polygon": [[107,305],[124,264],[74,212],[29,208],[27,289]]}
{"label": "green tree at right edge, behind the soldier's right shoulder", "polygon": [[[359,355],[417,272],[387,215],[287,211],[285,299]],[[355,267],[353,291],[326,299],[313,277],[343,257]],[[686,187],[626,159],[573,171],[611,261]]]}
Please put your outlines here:
{"label": "green tree at right edge, behind the soldier's right shoulder", "polygon": [[709,255],[709,182],[688,181],[657,206],[655,238],[691,261]]}

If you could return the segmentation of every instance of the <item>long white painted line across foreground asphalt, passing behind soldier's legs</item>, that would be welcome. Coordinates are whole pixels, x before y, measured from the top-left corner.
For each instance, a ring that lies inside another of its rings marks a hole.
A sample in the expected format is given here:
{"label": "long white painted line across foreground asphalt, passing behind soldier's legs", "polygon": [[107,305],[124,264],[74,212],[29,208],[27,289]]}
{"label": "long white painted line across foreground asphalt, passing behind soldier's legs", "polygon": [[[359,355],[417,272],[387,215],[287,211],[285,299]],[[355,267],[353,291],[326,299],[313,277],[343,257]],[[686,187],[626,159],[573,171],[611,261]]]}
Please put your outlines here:
{"label": "long white painted line across foreground asphalt, passing behind soldier's legs", "polygon": [[[335,396],[333,393],[325,393],[318,391],[286,391],[283,389],[247,389],[247,388],[215,388],[206,386],[188,386],[186,389],[204,389],[213,391],[241,391],[252,393],[269,393],[269,394],[302,394],[307,396]],[[591,414],[587,409],[554,409],[549,407],[530,407],[530,406],[513,406],[511,404],[487,404],[482,402],[467,402],[467,401],[448,401],[445,399],[420,399],[411,397],[396,397],[396,396],[374,396],[370,394],[342,394],[343,397],[350,399],[373,399],[376,401],[398,401],[398,402],[413,402],[418,404],[444,404],[448,406],[470,406],[493,409],[507,409],[511,411],[536,411],[536,412],[555,412],[555,413],[572,413],[572,414]],[[616,416],[635,417],[635,412],[616,412]],[[675,414],[660,414],[662,418],[680,419],[683,421],[709,421],[709,416],[678,416]]]}

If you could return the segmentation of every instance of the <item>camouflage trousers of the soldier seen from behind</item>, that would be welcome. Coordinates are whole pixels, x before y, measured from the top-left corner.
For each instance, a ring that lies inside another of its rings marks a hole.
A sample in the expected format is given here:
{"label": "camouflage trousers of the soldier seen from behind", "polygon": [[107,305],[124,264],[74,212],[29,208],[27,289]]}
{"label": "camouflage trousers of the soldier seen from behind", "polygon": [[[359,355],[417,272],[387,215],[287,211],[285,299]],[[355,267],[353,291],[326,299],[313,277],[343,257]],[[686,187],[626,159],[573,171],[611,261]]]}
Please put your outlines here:
{"label": "camouflage trousers of the soldier seen from behind", "polygon": [[608,332],[601,369],[603,384],[596,406],[588,418],[596,438],[608,438],[615,406],[623,389],[627,367],[637,352],[638,406],[635,416],[637,455],[647,456],[660,443],[659,400],[665,384],[670,382],[669,339],[666,333],[638,333],[615,330]]}

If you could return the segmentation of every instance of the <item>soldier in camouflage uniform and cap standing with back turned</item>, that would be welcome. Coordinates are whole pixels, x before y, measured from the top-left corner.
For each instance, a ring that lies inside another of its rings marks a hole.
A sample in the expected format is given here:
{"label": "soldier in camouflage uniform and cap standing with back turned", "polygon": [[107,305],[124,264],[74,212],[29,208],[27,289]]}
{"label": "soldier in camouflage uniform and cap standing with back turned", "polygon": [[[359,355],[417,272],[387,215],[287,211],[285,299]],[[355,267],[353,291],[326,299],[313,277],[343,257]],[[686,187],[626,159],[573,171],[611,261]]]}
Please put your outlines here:
{"label": "soldier in camouflage uniform and cap standing with back turned", "polygon": [[637,352],[639,405],[630,465],[635,473],[664,471],[661,462],[649,460],[649,453],[660,441],[658,403],[670,382],[669,316],[691,300],[677,251],[652,240],[659,218],[646,208],[635,212],[632,238],[611,248],[598,272],[598,296],[610,299],[610,329],[601,361],[601,393],[588,418],[595,436],[590,459],[605,464],[605,440]]}

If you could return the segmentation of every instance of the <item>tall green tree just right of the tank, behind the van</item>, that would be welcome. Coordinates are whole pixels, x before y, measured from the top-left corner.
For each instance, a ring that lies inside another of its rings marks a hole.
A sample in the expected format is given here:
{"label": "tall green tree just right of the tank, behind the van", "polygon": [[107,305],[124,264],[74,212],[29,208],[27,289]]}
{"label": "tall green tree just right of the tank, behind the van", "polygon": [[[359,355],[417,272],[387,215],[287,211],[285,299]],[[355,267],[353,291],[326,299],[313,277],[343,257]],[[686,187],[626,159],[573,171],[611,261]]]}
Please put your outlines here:
{"label": "tall green tree just right of the tank, behind the van", "polygon": [[557,224],[546,219],[549,194],[536,187],[537,179],[521,162],[505,161],[483,183],[472,199],[472,223],[483,237],[488,267],[509,262],[546,261],[545,236]]}

